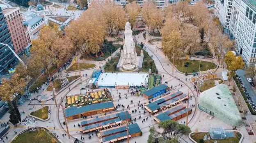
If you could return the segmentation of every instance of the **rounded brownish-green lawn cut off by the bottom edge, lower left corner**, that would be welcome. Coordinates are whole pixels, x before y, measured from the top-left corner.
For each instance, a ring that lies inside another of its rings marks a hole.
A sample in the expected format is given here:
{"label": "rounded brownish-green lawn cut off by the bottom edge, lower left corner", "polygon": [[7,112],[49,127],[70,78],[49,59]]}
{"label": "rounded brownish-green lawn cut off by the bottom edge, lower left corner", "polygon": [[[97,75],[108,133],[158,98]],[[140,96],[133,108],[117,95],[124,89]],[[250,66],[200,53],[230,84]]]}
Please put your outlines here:
{"label": "rounded brownish-green lawn cut off by the bottom edge, lower left corner", "polygon": [[17,136],[11,143],[60,143],[49,131],[37,128]]}

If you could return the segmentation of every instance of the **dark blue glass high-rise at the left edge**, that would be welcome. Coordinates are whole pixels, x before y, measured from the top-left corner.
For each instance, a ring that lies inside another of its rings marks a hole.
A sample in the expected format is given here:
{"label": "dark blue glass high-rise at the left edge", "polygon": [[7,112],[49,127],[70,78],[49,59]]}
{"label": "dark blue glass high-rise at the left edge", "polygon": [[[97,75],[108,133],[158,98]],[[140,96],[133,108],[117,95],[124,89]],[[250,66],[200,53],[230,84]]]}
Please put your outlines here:
{"label": "dark blue glass high-rise at the left edge", "polygon": [[[2,8],[0,7],[0,42],[8,44],[12,49],[14,49],[11,42],[11,35],[7,27],[7,22],[5,16],[2,13]],[[0,74],[3,74],[7,71],[11,65],[16,63],[17,59],[11,50],[4,45],[0,45]]]}

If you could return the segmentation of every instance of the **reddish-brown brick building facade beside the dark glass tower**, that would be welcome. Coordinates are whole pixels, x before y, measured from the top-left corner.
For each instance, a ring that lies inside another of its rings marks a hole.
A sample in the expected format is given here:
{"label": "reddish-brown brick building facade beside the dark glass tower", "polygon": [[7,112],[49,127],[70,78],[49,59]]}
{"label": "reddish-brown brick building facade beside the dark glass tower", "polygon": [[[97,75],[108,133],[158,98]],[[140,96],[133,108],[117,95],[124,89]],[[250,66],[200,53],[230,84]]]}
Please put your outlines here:
{"label": "reddish-brown brick building facade beside the dark glass tower", "polygon": [[2,10],[16,54],[23,53],[31,43],[27,28],[23,26],[23,20],[19,9],[20,8],[17,7]]}

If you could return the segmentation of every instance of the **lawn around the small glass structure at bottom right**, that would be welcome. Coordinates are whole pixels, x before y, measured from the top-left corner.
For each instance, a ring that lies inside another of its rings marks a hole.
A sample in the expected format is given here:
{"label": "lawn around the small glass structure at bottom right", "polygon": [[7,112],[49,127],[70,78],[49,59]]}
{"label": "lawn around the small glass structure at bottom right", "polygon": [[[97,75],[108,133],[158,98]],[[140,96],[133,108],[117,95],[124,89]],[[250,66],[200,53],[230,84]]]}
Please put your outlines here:
{"label": "lawn around the small glass structure at bottom right", "polygon": [[[203,135],[207,135],[210,136],[209,133],[198,133],[197,137],[195,136],[195,133],[191,134],[192,139],[194,139],[194,141],[196,141],[197,143],[199,143],[200,139],[203,139]],[[214,141],[217,141],[217,143],[238,143],[240,138],[238,139],[238,137],[241,137],[241,134],[239,132],[235,132],[235,134],[237,134],[235,138],[229,138],[229,139],[222,139],[222,140],[217,140],[217,139],[211,139],[211,140],[207,140],[204,141],[204,143],[214,143]]]}

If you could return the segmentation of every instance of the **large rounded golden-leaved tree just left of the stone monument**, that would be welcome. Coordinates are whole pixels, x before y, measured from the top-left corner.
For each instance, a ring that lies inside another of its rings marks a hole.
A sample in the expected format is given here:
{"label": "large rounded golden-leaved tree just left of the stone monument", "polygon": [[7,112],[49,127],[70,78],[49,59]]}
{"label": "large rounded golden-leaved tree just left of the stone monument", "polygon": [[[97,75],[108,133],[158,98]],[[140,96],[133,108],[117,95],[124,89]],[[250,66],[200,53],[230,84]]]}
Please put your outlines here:
{"label": "large rounded golden-leaved tree just left of the stone monument", "polygon": [[[88,11],[92,13],[92,11]],[[73,51],[79,50],[83,56],[96,54],[105,39],[105,27],[102,21],[85,12],[81,18],[71,22],[66,29],[66,36],[73,44]]]}

